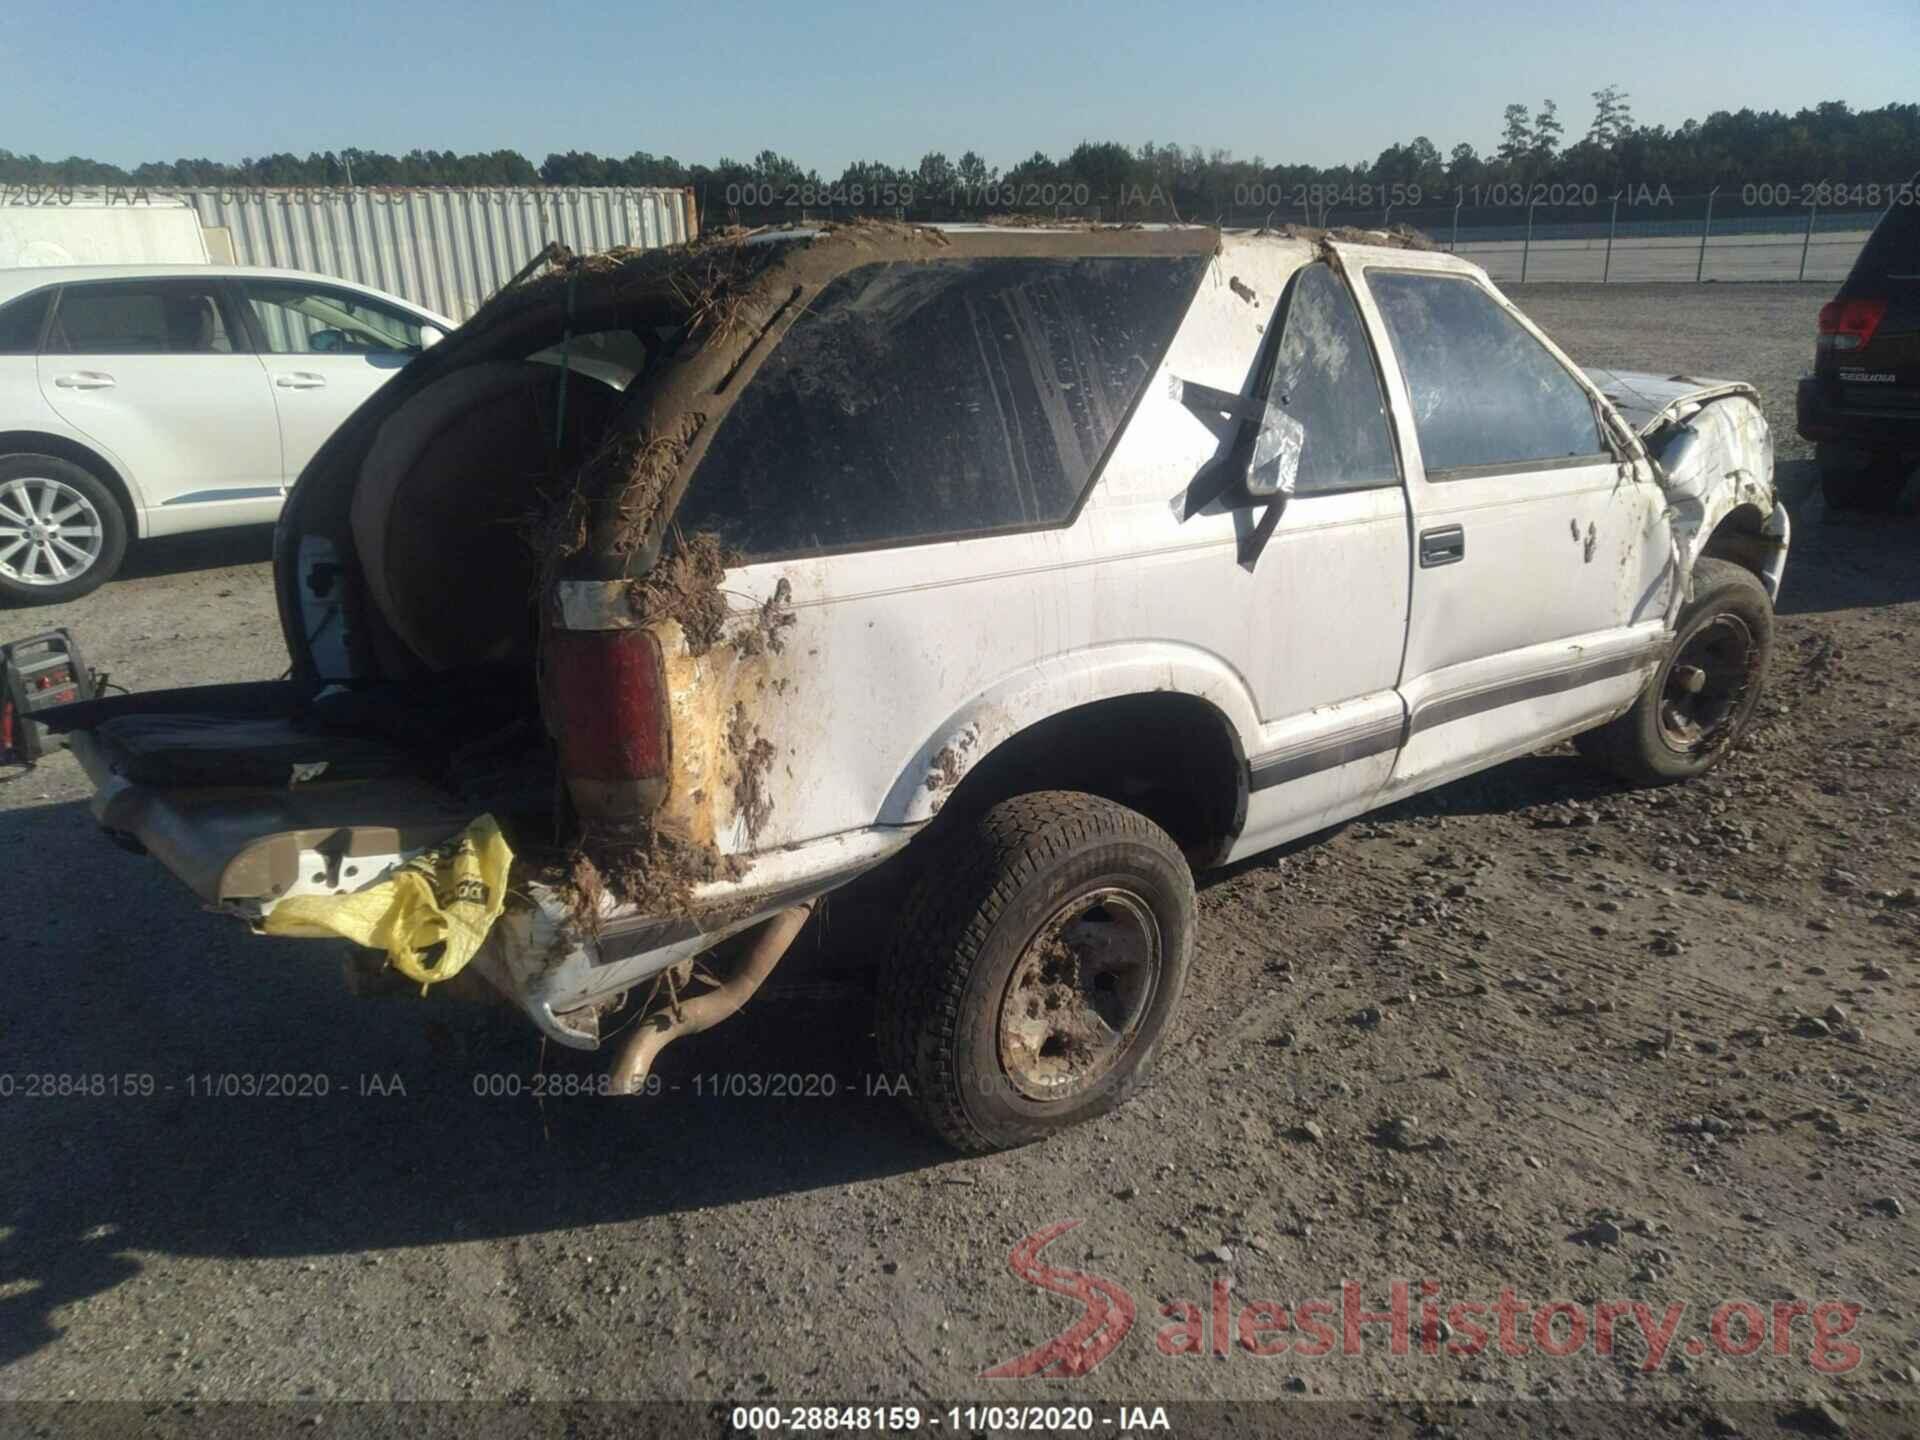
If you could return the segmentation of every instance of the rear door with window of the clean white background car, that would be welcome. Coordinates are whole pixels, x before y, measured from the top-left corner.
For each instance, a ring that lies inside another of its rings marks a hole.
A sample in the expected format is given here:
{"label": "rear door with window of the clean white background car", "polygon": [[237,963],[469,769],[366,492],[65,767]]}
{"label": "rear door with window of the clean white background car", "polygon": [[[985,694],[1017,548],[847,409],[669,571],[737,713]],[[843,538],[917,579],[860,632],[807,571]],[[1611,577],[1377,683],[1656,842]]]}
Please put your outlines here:
{"label": "rear door with window of the clean white background car", "polygon": [[69,284],[35,372],[48,409],[132,476],[146,534],[278,515],[267,372],[217,286]]}

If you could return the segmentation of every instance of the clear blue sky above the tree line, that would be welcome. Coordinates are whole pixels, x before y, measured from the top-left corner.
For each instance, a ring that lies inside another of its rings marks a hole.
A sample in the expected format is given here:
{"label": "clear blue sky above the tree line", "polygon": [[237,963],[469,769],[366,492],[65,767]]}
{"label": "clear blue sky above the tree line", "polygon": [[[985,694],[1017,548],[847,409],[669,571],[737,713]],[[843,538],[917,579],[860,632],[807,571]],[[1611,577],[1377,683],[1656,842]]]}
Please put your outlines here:
{"label": "clear blue sky above the tree line", "polygon": [[[1920,4],[323,6],[63,0],[0,27],[0,148],[134,163],[361,146],[684,161],[770,146],[837,175],[1083,138],[1267,161],[1496,144],[1511,102],[1622,84],[1636,119],[1920,100]],[[1766,177],[1757,177],[1766,179]]]}

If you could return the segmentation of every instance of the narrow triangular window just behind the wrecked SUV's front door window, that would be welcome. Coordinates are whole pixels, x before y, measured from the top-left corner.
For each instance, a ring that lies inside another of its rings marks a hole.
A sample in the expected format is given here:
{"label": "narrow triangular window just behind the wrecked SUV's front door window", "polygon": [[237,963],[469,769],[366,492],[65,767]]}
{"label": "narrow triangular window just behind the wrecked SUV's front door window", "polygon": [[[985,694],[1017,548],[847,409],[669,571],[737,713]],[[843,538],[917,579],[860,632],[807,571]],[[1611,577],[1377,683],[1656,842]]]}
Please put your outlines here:
{"label": "narrow triangular window just behind the wrecked SUV's front door window", "polygon": [[1325,261],[1304,267],[1288,286],[1267,403],[1306,430],[1294,495],[1400,484],[1359,307]]}

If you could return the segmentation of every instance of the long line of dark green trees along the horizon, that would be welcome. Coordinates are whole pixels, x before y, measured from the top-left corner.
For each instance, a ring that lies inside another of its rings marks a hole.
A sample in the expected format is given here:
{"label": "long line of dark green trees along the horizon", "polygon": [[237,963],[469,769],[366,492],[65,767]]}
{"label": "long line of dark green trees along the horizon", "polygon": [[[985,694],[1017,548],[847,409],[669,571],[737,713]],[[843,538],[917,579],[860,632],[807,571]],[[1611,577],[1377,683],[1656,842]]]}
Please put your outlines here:
{"label": "long line of dark green trees along the horizon", "polygon": [[[1066,156],[1035,152],[1006,171],[968,150],[958,159],[941,152],[918,165],[856,159],[839,175],[801,167],[776,150],[753,159],[722,157],[712,165],[682,163],[672,156],[636,150],[599,156],[588,150],[549,154],[532,163],[516,150],[455,154],[409,150],[326,150],[307,156],[273,154],[238,163],[215,159],[148,161],[123,169],[71,156],[42,159],[0,150],[0,182],[33,186],[691,186],[712,215],[739,196],[841,196],[833,204],[910,192],[914,209],[956,205],[972,209],[1025,207],[1023,198],[1060,196],[1114,209],[1171,209],[1185,219],[1210,219],[1244,209],[1246,196],[1317,188],[1388,190],[1404,205],[1444,205],[1459,196],[1473,204],[1492,186],[1578,186],[1601,196],[1617,190],[1665,188],[1699,194],[1715,186],[1751,184],[1885,184],[1920,171],[1920,104],[1853,109],[1843,100],[1786,113],[1778,109],[1715,111],[1680,127],[1638,125],[1632,98],[1617,84],[1592,94],[1592,119],[1571,140],[1553,100],[1511,104],[1492,148],[1482,154],[1459,142],[1446,154],[1425,134],[1392,144],[1371,161],[1344,165],[1269,163],[1236,159],[1227,150],[1154,144],[1127,146],[1087,140]],[[1413,196],[1419,196],[1415,200]],[[751,204],[751,202],[749,202]]]}

